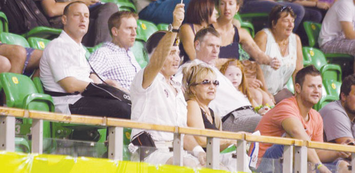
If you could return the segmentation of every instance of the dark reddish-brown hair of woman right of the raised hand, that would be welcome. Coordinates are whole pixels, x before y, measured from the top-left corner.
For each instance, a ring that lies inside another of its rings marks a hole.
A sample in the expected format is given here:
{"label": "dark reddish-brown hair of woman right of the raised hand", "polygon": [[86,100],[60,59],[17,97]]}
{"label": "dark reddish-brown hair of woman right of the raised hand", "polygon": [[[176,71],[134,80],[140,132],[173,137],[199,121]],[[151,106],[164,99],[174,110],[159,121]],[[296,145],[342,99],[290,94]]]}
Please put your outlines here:
{"label": "dark reddish-brown hair of woman right of the raised hand", "polygon": [[214,0],[191,0],[186,12],[186,23],[201,25],[203,21],[209,24],[213,13]]}

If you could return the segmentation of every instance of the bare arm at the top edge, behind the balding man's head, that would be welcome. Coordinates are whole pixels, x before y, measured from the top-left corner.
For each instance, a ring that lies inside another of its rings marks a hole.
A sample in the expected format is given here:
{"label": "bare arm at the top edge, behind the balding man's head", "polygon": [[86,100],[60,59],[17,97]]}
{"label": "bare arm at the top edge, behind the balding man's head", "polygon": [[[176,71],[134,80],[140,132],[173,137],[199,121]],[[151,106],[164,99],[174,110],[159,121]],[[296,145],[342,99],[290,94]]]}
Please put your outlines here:
{"label": "bare arm at the top edge, behind the balding man's head", "polygon": [[[99,2],[98,0],[78,0],[78,1],[84,2],[87,6]],[[65,6],[67,6],[71,2],[72,1],[56,2],[55,0],[42,0],[41,5],[43,11],[46,13],[48,17],[54,17],[54,16],[63,15]]]}

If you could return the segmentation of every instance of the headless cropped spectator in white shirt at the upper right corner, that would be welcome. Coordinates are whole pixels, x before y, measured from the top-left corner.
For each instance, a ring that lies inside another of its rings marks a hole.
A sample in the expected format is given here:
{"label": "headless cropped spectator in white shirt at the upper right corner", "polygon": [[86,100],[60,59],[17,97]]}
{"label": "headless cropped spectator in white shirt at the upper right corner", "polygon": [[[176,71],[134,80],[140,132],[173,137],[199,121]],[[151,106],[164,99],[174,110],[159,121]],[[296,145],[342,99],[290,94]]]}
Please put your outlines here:
{"label": "headless cropped spectator in white shirt at the upper right corner", "polygon": [[[355,56],[355,5],[351,0],[336,1],[322,23],[318,44],[324,53],[344,53]],[[355,62],[353,64],[355,67]],[[355,73],[355,68],[353,68]]]}

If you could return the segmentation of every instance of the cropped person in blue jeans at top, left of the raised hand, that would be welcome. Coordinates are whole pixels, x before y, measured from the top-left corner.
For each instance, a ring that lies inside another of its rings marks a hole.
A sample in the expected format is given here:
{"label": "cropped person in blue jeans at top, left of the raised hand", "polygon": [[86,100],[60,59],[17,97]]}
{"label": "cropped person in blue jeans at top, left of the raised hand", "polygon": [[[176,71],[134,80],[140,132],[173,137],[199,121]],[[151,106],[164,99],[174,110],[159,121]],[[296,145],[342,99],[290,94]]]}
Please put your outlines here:
{"label": "cropped person in blue jeans at top, left of the raised hand", "polygon": [[[176,4],[180,4],[181,0],[132,0],[137,8],[137,12],[141,19],[152,21],[154,24],[171,24],[172,12]],[[185,11],[190,0],[183,0]],[[186,13],[185,13],[186,15]]]}

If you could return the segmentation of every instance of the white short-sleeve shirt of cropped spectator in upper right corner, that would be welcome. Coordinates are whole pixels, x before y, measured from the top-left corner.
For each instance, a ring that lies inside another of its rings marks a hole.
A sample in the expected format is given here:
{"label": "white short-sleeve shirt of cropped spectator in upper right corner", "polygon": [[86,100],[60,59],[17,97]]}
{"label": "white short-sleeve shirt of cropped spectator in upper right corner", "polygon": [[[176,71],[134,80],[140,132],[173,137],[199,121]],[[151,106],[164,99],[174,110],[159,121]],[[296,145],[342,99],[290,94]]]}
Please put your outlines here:
{"label": "white short-sleeve shirt of cropped spectator in upper right corner", "polygon": [[340,21],[350,21],[352,25],[355,24],[355,6],[352,0],[339,0],[328,10],[319,34],[319,46],[335,38],[345,38]]}

